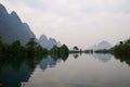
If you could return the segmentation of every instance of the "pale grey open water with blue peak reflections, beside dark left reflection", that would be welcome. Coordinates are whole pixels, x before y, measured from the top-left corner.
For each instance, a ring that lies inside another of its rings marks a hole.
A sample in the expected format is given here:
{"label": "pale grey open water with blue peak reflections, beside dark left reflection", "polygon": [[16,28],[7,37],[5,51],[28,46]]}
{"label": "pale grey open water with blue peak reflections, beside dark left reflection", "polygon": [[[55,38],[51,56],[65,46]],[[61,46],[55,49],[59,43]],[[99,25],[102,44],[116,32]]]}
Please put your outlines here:
{"label": "pale grey open water with blue peak reflections, beside dark left reflection", "polygon": [[[49,55],[37,65],[24,87],[130,86],[130,69],[127,65],[112,59],[109,54],[94,55],[98,55],[96,59],[102,62],[95,61],[91,54],[81,54],[76,60],[70,54],[66,62]],[[104,63],[104,61],[107,63]],[[58,65],[57,62],[60,63]]]}

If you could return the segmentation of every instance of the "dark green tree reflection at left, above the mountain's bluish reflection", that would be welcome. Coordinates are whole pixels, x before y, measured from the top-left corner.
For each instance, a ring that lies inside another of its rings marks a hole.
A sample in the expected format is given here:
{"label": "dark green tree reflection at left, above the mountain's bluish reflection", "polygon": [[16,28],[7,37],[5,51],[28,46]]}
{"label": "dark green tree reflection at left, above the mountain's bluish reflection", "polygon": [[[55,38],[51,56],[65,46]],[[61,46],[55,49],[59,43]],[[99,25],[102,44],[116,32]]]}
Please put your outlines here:
{"label": "dark green tree reflection at left, above the mountain's bluish reflection", "polygon": [[20,69],[21,64],[25,63],[30,69],[34,69],[34,66],[41,61],[41,59],[44,58],[44,55],[39,57],[32,57],[32,55],[25,55],[22,53],[17,54],[3,54],[0,57],[0,70],[10,65],[13,69]]}

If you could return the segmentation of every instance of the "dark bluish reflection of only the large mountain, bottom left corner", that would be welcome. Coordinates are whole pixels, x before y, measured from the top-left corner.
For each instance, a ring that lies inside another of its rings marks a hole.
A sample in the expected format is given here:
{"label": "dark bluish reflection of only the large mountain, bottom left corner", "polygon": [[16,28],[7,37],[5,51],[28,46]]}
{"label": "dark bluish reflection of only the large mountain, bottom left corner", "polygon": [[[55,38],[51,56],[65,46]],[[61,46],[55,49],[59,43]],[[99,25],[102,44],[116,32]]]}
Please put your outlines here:
{"label": "dark bluish reflection of only the large mountain, bottom left corner", "polygon": [[0,72],[0,80],[3,87],[20,87],[21,82],[27,82],[34,69],[22,64],[18,70],[6,66]]}

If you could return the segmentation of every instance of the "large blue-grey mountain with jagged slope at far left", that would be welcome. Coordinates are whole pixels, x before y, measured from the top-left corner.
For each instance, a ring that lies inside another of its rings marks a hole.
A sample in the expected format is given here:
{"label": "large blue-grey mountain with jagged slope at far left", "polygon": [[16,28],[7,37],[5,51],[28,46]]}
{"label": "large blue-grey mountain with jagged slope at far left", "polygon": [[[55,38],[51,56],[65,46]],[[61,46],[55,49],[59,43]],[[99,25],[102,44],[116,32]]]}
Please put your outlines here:
{"label": "large blue-grey mountain with jagged slope at far left", "polygon": [[23,23],[16,12],[9,14],[2,4],[0,4],[0,36],[8,44],[17,39],[22,45],[30,38],[36,38],[28,24]]}

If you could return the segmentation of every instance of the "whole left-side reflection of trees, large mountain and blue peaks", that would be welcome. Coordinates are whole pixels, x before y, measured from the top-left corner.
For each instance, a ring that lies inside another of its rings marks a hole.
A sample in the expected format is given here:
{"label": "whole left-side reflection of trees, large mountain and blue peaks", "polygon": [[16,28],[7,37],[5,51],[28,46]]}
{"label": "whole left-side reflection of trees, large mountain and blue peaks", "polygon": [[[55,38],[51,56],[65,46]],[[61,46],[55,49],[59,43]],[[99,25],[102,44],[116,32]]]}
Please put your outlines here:
{"label": "whole left-side reflection of trees, large mountain and blue peaks", "polygon": [[42,70],[47,70],[48,66],[55,66],[61,60],[66,61],[67,57],[31,55],[26,58],[18,54],[0,57],[0,84],[3,87],[20,87],[28,80],[37,64],[40,64]]}

